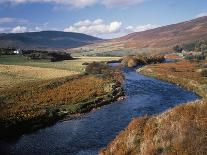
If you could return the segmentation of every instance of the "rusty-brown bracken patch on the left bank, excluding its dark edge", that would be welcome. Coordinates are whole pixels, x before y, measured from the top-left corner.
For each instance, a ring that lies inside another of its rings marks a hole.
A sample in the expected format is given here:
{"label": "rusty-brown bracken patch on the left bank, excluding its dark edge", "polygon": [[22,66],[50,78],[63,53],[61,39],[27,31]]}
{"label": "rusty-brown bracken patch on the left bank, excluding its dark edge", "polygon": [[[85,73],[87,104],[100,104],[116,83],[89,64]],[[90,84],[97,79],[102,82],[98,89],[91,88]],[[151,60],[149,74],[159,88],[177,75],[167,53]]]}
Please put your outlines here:
{"label": "rusty-brown bracken patch on the left bank, excluding its dark edge", "polygon": [[1,105],[0,118],[30,119],[45,109],[85,102],[106,94],[104,86],[108,82],[95,76],[79,76],[13,87],[2,91],[4,104]]}

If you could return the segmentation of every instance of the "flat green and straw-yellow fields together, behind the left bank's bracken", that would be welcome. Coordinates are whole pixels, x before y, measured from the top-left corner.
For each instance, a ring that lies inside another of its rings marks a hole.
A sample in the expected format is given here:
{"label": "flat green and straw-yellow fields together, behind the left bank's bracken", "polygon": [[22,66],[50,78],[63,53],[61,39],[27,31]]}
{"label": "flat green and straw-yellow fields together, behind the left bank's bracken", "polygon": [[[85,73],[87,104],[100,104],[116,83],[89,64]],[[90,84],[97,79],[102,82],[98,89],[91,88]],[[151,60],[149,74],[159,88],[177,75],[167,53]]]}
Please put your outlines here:
{"label": "flat green and straw-yellow fields together, behind the left bank's bracken", "polygon": [[29,60],[21,55],[0,56],[0,90],[25,82],[54,79],[84,73],[84,62],[112,61],[118,57],[79,57],[75,60],[50,62]]}

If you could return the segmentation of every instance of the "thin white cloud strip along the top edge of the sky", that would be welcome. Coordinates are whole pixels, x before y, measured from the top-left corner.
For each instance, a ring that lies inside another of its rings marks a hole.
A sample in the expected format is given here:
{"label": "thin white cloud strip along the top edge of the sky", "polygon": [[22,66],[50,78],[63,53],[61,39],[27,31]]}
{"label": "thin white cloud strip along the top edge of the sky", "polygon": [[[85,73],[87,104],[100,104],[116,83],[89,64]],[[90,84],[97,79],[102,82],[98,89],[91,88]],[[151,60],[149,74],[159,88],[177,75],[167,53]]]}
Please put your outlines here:
{"label": "thin white cloud strip along the top edge of the sky", "polygon": [[107,7],[129,6],[140,4],[146,0],[1,0],[0,3],[24,4],[24,3],[55,3],[67,5],[75,8],[84,8],[94,4],[102,4]]}

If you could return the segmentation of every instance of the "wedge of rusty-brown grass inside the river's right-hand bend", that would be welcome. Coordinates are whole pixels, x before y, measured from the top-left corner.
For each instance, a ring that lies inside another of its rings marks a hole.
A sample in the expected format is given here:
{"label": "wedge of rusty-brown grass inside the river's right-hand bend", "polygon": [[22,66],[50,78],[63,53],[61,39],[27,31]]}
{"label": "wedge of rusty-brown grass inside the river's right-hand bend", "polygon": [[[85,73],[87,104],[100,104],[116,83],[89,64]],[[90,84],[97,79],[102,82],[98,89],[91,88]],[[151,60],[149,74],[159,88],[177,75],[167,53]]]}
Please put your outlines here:
{"label": "wedge of rusty-brown grass inside the river's right-hand bend", "polygon": [[205,62],[180,61],[177,63],[148,65],[140,69],[140,72],[147,76],[153,76],[161,80],[178,84],[205,97],[207,78],[203,77],[199,72],[204,63]]}

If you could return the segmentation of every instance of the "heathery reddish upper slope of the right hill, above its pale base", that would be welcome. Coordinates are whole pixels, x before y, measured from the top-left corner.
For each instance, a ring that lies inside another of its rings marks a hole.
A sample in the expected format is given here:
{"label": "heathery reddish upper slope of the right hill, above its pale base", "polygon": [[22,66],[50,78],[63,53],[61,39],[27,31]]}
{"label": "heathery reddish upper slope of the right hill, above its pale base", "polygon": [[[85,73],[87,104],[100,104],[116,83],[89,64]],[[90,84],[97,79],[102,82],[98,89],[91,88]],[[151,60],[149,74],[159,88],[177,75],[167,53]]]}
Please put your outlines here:
{"label": "heathery reddish upper slope of the right hill, above its pale base", "polygon": [[198,39],[207,39],[207,17],[159,27],[145,32],[132,33],[115,39],[115,41],[127,42],[126,47],[132,48],[160,48],[188,43]]}

